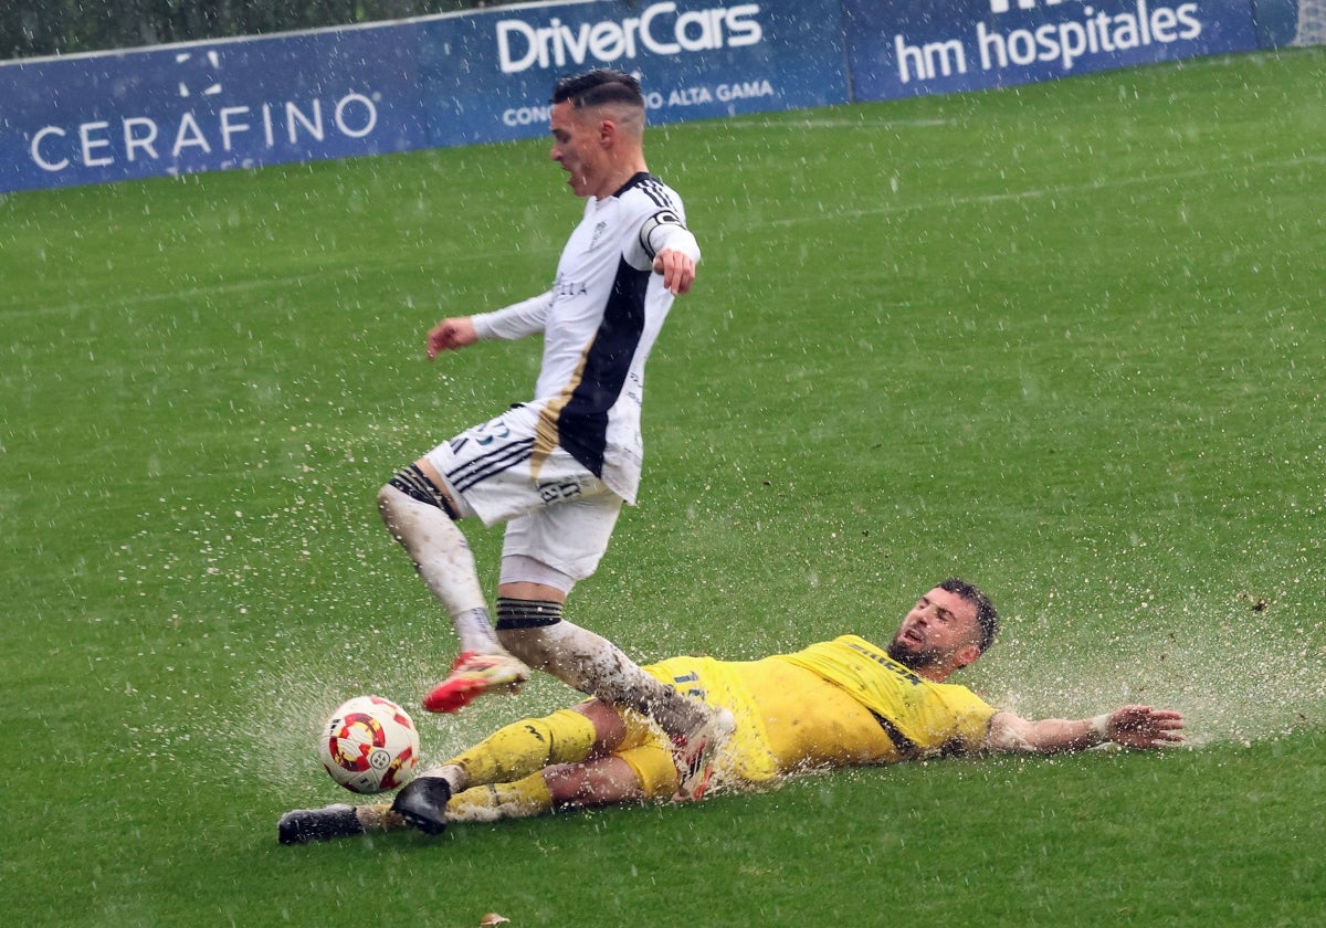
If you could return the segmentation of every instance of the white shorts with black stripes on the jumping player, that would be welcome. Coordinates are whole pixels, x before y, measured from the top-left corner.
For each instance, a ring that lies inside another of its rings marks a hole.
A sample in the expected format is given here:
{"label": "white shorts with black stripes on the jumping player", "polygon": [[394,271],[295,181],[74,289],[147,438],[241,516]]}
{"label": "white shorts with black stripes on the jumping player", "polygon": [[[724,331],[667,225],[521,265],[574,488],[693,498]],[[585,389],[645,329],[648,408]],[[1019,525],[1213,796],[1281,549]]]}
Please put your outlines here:
{"label": "white shorts with black stripes on the jumping player", "polygon": [[446,481],[459,516],[507,524],[504,558],[525,555],[585,579],[607,550],[622,497],[560,444],[534,453],[540,408],[514,406],[424,457]]}

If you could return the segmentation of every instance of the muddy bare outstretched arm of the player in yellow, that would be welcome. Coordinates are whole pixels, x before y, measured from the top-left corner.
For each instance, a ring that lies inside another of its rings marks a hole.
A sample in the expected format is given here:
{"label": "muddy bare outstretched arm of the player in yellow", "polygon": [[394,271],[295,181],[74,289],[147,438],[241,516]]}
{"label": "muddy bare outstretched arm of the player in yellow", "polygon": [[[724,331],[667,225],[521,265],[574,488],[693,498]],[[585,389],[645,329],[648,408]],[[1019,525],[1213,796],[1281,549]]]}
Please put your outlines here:
{"label": "muddy bare outstretched arm of the player in yellow", "polygon": [[1150,705],[1124,705],[1094,719],[1030,721],[1012,712],[991,719],[985,750],[991,753],[1058,754],[1113,741],[1124,748],[1155,749],[1183,742],[1183,716]]}

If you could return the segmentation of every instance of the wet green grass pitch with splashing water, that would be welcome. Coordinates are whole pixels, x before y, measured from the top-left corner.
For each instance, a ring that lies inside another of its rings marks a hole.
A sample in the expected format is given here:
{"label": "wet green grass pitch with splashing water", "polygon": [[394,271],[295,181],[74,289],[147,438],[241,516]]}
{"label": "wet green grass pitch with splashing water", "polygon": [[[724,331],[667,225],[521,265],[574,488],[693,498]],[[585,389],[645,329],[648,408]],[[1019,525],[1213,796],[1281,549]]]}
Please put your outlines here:
{"label": "wet green grass pitch with splashing water", "polygon": [[[374,493],[528,396],[544,142],[0,199],[0,896],[28,925],[1306,925],[1326,911],[1326,52],[658,127],[705,259],[573,616],[640,659],[888,634],[1195,749],[943,761],[280,847],[341,699],[452,654]],[[485,582],[497,534],[471,529]],[[440,757],[570,699],[426,719]],[[422,712],[415,713],[423,716]]]}

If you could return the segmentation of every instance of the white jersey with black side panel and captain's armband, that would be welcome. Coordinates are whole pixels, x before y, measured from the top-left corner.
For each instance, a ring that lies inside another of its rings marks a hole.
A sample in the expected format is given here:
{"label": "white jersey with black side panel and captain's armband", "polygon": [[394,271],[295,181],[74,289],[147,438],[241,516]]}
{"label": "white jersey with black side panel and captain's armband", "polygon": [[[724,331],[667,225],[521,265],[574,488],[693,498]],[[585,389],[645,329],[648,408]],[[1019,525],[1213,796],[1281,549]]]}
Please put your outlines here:
{"label": "white jersey with black side panel and captain's armband", "polygon": [[644,362],[674,300],[652,270],[664,248],[700,257],[682,199],[636,174],[611,196],[589,198],[548,293],[473,317],[480,338],[542,333],[538,445],[561,444],[630,504],[643,457]]}

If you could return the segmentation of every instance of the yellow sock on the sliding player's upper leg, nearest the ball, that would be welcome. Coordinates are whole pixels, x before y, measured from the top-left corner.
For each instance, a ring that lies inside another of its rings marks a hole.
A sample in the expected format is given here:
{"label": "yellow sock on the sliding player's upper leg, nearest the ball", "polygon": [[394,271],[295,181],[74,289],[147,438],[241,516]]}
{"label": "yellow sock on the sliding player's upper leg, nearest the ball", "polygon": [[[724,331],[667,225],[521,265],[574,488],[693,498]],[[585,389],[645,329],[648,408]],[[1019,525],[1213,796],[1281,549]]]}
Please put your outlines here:
{"label": "yellow sock on the sliding player's upper leg, nearest the ball", "polygon": [[[465,770],[465,786],[469,787],[511,783],[513,780],[524,781],[550,764],[585,760],[594,738],[594,723],[579,712],[562,709],[500,728],[447,764]],[[538,780],[542,782],[542,777]]]}

